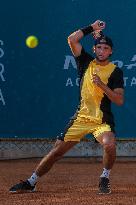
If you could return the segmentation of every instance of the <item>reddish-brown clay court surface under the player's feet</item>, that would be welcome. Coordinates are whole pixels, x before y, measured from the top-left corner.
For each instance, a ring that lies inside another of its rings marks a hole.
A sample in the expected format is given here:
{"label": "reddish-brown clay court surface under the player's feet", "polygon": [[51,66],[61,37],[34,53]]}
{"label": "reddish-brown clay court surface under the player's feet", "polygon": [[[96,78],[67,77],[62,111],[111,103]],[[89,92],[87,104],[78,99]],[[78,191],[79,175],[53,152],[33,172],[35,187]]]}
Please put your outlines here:
{"label": "reddish-brown clay court surface under the player's feet", "polygon": [[10,194],[9,188],[29,177],[40,159],[0,162],[0,205],[136,205],[136,163],[117,161],[111,173],[112,194],[98,195],[102,163],[65,158],[42,177],[35,193]]}

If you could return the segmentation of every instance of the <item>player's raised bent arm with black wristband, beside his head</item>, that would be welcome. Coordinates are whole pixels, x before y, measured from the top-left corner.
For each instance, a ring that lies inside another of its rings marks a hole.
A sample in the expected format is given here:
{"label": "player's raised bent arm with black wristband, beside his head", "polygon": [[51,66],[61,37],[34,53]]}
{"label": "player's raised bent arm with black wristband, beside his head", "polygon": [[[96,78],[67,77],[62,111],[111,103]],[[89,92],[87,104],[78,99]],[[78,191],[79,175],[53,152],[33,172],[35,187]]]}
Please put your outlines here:
{"label": "player's raised bent arm with black wristband, beside his head", "polygon": [[80,40],[84,36],[92,33],[93,31],[102,30],[104,28],[105,28],[105,24],[103,26],[100,26],[100,20],[97,20],[93,24],[91,24],[90,26],[79,29],[79,30],[75,31],[74,33],[72,33],[68,37],[68,44],[71,48],[71,51],[72,51],[73,55],[75,57],[80,56],[81,51],[82,51],[82,45],[80,43]]}

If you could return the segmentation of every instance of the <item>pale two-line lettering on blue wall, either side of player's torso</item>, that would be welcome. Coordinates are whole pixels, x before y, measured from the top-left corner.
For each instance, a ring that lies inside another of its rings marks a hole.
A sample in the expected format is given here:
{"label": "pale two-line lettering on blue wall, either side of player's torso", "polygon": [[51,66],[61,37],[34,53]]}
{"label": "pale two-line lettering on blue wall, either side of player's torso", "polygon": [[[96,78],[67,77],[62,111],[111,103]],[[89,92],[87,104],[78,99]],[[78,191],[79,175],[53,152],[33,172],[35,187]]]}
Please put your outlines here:
{"label": "pale two-line lettering on blue wall, either side of player's torso", "polygon": [[[126,68],[130,72],[136,68],[136,54],[133,55],[130,61],[132,62],[130,64],[124,64],[124,62],[121,60],[114,60],[112,61],[112,63],[116,64],[119,68],[122,68],[124,66],[124,68]],[[66,55],[63,69],[68,70],[71,68],[71,65],[74,69],[77,69],[77,65],[76,65],[76,61],[74,57],[70,55]],[[72,80],[72,78],[69,76],[66,80],[65,86],[66,87],[79,86],[79,78],[75,78],[74,80]],[[125,76],[124,86],[125,87],[126,86],[130,86],[130,87],[136,86],[136,77],[135,76],[132,76],[132,77]]]}

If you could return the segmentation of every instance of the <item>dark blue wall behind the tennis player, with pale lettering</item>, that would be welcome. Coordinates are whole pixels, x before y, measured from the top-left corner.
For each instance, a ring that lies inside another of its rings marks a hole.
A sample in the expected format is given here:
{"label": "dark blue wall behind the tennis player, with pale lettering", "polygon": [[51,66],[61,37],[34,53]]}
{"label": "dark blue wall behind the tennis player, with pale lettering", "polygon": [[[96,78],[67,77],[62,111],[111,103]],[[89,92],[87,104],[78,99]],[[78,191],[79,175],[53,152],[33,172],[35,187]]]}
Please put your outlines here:
{"label": "dark blue wall behind the tennis player, with pale lettering", "polygon": [[[124,70],[126,102],[114,106],[117,136],[136,137],[136,1],[3,1],[0,12],[0,137],[56,137],[74,114],[78,81],[68,35],[106,21],[112,60]],[[39,45],[29,49],[25,39]],[[91,51],[93,41],[82,41]]]}

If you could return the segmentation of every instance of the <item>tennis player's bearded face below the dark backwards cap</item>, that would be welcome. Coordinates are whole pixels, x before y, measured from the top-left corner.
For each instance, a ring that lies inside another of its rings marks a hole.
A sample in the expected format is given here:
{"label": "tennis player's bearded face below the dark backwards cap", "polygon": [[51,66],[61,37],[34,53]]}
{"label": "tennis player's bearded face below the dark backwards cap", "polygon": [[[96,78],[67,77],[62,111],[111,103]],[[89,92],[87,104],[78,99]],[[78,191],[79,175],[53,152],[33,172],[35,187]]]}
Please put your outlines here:
{"label": "tennis player's bearded face below the dark backwards cap", "polygon": [[97,44],[95,46],[96,58],[99,61],[106,61],[112,54],[112,49],[107,44]]}

